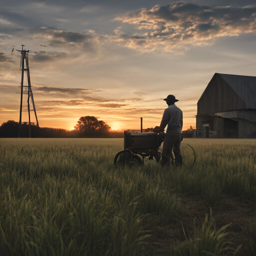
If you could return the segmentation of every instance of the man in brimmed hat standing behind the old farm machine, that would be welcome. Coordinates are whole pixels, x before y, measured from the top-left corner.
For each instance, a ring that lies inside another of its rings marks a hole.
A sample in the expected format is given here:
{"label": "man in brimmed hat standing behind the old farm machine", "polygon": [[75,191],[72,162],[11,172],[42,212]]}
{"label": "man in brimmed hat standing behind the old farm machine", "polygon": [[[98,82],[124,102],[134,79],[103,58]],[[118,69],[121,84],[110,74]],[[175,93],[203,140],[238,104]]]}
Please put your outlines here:
{"label": "man in brimmed hat standing behind the old farm machine", "polygon": [[181,131],[183,125],[182,111],[175,105],[175,102],[178,101],[178,99],[175,99],[175,96],[168,95],[166,98],[164,98],[164,100],[166,100],[168,107],[163,112],[160,126],[156,126],[154,128],[163,131],[165,126],[168,124],[165,139],[163,141],[162,163],[164,165],[169,164],[170,157],[171,163],[174,162],[172,156],[173,150],[175,164],[181,165],[182,156],[180,153],[180,142],[182,140]]}

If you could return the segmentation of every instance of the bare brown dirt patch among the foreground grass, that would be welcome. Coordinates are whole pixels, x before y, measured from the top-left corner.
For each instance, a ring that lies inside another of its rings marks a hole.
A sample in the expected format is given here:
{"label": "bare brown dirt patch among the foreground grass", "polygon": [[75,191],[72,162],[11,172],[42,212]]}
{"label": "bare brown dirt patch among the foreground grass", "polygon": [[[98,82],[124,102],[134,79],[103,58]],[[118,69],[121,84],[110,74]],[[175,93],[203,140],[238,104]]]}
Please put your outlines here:
{"label": "bare brown dirt patch among the foreground grass", "polygon": [[250,225],[255,223],[255,202],[222,196],[220,201],[209,203],[199,196],[181,196],[180,203],[183,208],[182,216],[172,224],[156,225],[153,228],[151,240],[157,248],[156,255],[169,255],[173,246],[185,240],[182,225],[187,232],[193,230],[193,222],[196,226],[201,226],[210,208],[216,228],[231,223],[226,230],[230,232],[230,238],[236,246],[243,244],[241,255],[244,254],[242,251],[246,250],[253,235]]}

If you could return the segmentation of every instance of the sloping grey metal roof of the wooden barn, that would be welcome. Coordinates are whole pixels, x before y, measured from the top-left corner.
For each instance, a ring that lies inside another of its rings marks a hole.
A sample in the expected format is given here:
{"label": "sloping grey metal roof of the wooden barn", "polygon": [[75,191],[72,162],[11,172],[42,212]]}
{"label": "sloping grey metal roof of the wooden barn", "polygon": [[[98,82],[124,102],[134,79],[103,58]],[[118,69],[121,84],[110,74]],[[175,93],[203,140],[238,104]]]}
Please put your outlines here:
{"label": "sloping grey metal roof of the wooden barn", "polygon": [[248,108],[256,108],[256,76],[217,73]]}

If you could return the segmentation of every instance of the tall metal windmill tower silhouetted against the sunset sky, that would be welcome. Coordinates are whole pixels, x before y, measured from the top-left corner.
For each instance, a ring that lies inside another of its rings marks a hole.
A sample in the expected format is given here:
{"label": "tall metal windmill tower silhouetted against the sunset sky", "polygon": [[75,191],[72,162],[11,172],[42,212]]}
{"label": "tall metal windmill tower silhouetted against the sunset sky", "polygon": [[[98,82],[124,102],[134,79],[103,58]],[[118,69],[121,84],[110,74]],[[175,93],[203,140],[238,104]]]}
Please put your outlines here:
{"label": "tall metal windmill tower silhouetted against the sunset sky", "polygon": [[[21,53],[20,58],[20,67],[21,70],[21,83],[20,83],[20,110],[19,110],[19,123],[18,123],[18,137],[20,135],[20,127],[21,127],[21,114],[22,114],[22,98],[23,94],[27,94],[27,111],[28,111],[28,124],[29,124],[29,138],[31,137],[31,122],[30,122],[30,111],[34,111],[35,119],[36,119],[36,125],[39,127],[36,111],[35,111],[35,105],[34,105],[34,99],[33,99],[33,93],[31,89],[31,83],[30,83],[30,75],[29,75],[29,66],[28,66],[28,52],[29,50],[24,49],[24,44],[21,44],[22,49],[17,50]],[[32,103],[32,104],[31,104]]]}

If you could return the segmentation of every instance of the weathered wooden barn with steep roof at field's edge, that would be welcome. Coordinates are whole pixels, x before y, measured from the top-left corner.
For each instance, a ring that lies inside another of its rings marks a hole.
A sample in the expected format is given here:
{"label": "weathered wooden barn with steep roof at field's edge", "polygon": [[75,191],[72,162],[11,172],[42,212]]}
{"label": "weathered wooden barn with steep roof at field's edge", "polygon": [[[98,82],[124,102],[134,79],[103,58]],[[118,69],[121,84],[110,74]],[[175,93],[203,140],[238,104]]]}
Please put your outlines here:
{"label": "weathered wooden barn with steep roof at field's edge", "polygon": [[197,102],[196,135],[256,138],[256,77],[215,73]]}

